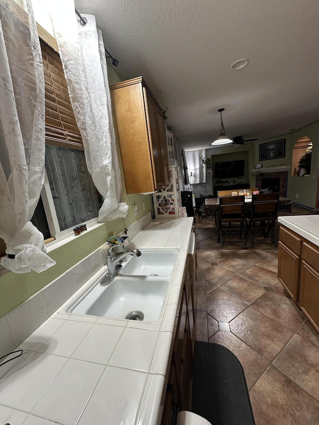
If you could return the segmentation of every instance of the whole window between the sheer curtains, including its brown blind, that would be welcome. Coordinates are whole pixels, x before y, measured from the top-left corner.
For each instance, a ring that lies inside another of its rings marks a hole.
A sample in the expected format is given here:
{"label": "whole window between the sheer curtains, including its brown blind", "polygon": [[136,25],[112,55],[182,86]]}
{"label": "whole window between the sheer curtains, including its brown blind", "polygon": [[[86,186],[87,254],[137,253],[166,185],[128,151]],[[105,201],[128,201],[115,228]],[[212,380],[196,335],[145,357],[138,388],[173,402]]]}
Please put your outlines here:
{"label": "whole window between the sheer curtains, including its brown blind", "polygon": [[44,208],[34,214],[37,223],[50,217],[50,236],[58,238],[80,223],[98,216],[103,203],[85,162],[60,57],[40,40],[45,80]]}

